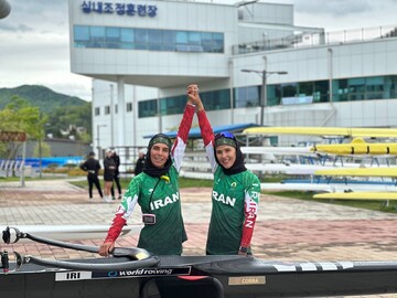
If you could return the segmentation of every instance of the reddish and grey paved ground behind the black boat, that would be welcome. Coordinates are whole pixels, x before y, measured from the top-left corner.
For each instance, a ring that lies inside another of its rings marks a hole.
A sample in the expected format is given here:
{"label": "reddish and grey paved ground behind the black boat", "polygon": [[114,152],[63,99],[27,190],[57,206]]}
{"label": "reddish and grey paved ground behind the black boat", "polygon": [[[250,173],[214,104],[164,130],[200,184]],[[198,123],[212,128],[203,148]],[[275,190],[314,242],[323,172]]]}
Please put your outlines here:
{"label": "reddish and grey paved ground behind the black boat", "polygon": [[[118,200],[103,203],[97,193],[89,201],[87,190],[67,181],[0,182],[0,225],[108,225]],[[211,189],[181,190],[189,241],[184,255],[204,255],[211,213]],[[275,260],[396,260],[397,215],[318,202],[261,195],[253,238],[257,257]],[[129,220],[138,224],[139,212]],[[118,246],[135,246],[138,235],[120,237]],[[105,237],[105,234],[104,234]],[[103,241],[79,243],[99,245]],[[1,246],[1,245],[0,245]],[[79,258],[79,253],[35,243],[8,247],[22,254],[45,258]],[[367,296],[397,297],[397,295]]]}

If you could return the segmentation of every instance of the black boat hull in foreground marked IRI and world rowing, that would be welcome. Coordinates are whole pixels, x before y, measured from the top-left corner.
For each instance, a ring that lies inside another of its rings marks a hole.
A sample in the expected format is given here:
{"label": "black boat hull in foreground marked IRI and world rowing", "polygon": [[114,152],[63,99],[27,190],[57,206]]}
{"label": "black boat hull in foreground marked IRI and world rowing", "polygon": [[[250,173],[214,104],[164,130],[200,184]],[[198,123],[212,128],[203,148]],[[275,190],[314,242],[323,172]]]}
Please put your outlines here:
{"label": "black boat hull in foreground marked IRI and world rowing", "polygon": [[65,270],[26,264],[18,272],[0,274],[0,292],[1,297],[15,298],[258,298],[397,292],[397,262],[283,263],[243,256],[159,259],[155,267],[131,270]]}

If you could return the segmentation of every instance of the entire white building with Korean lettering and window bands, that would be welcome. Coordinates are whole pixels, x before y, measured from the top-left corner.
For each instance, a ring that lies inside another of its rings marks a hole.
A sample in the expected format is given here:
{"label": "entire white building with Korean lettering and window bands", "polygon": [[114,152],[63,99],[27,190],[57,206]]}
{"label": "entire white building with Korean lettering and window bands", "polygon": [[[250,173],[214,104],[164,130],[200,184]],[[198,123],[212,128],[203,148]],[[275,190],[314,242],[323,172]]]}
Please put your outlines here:
{"label": "entire white building with Korean lettering and window bands", "polygon": [[68,3],[97,149],[175,130],[192,83],[213,126],[397,127],[394,26],[326,33],[294,24],[292,4],[251,1]]}

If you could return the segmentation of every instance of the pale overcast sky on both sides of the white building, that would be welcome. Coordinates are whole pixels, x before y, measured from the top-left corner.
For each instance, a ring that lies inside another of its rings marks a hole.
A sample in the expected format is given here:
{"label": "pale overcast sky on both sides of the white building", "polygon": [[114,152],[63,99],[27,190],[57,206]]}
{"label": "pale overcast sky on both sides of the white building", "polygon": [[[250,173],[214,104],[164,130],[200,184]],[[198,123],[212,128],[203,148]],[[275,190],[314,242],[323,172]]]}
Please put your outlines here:
{"label": "pale overcast sky on both sides of the white building", "polygon": [[[260,1],[293,3],[296,25],[324,28],[325,31],[397,25],[397,0]],[[90,78],[71,73],[67,1],[8,2],[11,13],[0,19],[0,88],[44,85],[89,100]]]}

